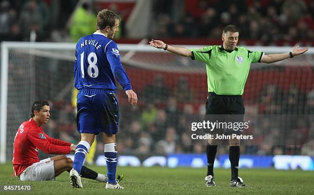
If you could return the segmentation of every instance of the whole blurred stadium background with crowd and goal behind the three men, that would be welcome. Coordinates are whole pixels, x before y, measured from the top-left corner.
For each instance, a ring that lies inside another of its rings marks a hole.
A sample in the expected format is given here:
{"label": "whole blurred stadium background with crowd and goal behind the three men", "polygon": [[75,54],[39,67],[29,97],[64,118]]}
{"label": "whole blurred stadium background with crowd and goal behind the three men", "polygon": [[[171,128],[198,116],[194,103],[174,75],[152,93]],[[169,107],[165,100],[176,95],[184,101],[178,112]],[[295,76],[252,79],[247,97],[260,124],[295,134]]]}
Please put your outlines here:
{"label": "whole blurred stadium background with crowd and goal behind the three men", "polygon": [[[240,28],[238,45],[261,46],[262,51],[263,46],[314,46],[314,12],[310,11],[314,1],[310,0],[2,0],[0,41],[60,43],[58,49],[49,48],[49,44],[45,49],[8,49],[6,161],[11,161],[16,130],[29,119],[36,99],[50,102],[51,117],[44,126],[50,136],[71,143],[80,141],[75,115],[77,91],[73,88],[74,45],[69,50],[61,43],[73,44],[93,33],[96,13],[105,8],[121,17],[114,41],[139,97],[139,105],[129,105],[117,84],[119,155],[131,155],[140,162],[158,156],[167,159],[167,166],[190,166],[193,158],[186,163],[182,160],[186,156],[181,154],[193,154],[204,160],[195,161],[196,167],[206,166],[206,142],[192,142],[190,138],[191,122],[202,121],[205,113],[206,69],[188,58],[157,49],[132,51],[123,44],[147,45],[154,38],[175,45],[221,45],[223,27],[234,24]],[[286,51],[277,48],[276,52]],[[263,157],[263,167],[276,166],[274,157],[304,155],[314,169],[310,158],[314,156],[313,60],[311,53],[251,66],[243,98],[246,119],[251,121],[245,133],[254,139],[241,146],[246,159],[253,155],[251,160],[256,162]],[[103,155],[102,143],[97,136],[87,163],[102,164],[97,161]],[[219,147],[219,153],[222,155],[215,166],[227,167],[226,143]],[[169,161],[170,157],[176,160]],[[125,161],[135,165],[133,160]]]}

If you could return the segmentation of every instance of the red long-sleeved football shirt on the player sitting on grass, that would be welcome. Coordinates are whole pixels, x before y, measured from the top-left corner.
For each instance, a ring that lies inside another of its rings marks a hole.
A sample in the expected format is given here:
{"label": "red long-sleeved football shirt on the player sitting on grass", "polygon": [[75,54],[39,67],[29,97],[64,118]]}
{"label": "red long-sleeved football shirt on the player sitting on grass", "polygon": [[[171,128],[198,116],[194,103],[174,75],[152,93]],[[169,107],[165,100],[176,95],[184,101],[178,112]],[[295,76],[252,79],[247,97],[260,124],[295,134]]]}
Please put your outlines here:
{"label": "red long-sleeved football shirt on the player sitting on grass", "polygon": [[40,162],[38,150],[45,153],[68,154],[71,152],[71,143],[50,138],[38,127],[33,119],[25,121],[17,129],[14,138],[13,167],[14,175],[20,175],[33,163]]}

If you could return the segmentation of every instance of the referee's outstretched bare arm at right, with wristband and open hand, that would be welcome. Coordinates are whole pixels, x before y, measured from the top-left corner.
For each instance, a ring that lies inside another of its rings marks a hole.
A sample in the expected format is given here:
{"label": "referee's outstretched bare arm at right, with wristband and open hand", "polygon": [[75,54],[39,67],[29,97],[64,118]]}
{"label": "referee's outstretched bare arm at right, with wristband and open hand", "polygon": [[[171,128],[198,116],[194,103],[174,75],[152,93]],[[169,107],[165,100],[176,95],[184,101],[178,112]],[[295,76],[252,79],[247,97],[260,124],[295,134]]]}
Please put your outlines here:
{"label": "referee's outstretched bare arm at right, with wristband and open hand", "polygon": [[[308,50],[308,48],[299,49],[299,46],[297,45],[297,46],[293,47],[293,49],[291,51],[292,57],[296,56],[296,55],[300,55],[300,54],[306,52],[307,50]],[[261,62],[263,62],[263,63],[273,63],[273,62],[278,62],[278,61],[285,60],[285,59],[287,59],[289,57],[291,57],[290,53],[268,54],[268,55],[264,55],[262,57]]]}

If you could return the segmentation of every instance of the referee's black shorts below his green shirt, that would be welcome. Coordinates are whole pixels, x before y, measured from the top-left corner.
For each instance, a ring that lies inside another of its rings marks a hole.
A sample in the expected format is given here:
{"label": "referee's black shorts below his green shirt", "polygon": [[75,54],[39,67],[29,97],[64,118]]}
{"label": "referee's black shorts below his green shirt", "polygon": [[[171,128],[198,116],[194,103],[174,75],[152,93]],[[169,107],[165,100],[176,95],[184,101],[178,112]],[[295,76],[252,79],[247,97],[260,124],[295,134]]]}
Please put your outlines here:
{"label": "referee's black shorts below his green shirt", "polygon": [[[244,122],[244,112],[242,95],[217,95],[213,92],[208,93],[205,112],[206,121],[237,125]],[[240,135],[242,131],[243,129],[239,128],[230,129],[224,127],[216,128],[210,133],[235,133]]]}

